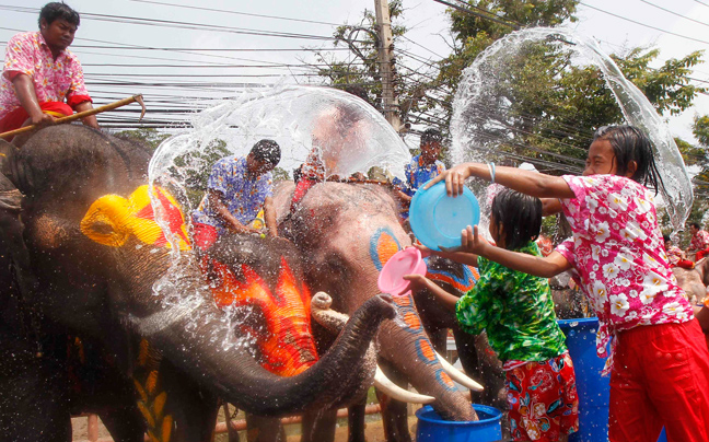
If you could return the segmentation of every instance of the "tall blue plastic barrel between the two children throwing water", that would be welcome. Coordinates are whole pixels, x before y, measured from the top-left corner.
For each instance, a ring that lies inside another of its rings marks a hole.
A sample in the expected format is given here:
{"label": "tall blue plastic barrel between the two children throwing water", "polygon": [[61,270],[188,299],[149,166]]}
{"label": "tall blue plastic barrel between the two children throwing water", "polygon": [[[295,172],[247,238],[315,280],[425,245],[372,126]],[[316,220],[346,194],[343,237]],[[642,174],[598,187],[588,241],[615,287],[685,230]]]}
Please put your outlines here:
{"label": "tall blue plastic barrel between the two children throwing water", "polygon": [[[573,360],[579,394],[579,431],[569,442],[600,442],[608,440],[609,376],[601,376],[605,359],[596,354],[597,317],[559,319],[566,335],[569,354]],[[666,442],[664,429],[658,442]]]}

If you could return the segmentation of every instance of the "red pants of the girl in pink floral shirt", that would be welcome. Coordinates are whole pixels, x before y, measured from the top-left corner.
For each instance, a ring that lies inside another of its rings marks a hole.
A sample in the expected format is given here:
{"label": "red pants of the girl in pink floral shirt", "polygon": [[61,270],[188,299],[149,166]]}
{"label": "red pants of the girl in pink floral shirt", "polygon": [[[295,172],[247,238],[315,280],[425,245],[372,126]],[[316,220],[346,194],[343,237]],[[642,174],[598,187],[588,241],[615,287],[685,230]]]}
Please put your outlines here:
{"label": "red pants of the girl in pink floral shirt", "polygon": [[709,350],[697,321],[618,333],[611,374],[612,442],[709,441]]}

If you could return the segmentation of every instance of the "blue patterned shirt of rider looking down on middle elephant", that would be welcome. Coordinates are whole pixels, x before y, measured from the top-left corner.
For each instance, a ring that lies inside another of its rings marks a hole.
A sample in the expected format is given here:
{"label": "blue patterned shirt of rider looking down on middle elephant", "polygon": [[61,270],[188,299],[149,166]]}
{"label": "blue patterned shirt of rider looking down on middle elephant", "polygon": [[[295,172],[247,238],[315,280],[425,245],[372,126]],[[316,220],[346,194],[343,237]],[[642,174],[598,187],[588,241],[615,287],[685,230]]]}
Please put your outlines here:
{"label": "blue patterned shirt of rider looking down on middle elephant", "polygon": [[[248,225],[264,206],[267,197],[274,194],[271,173],[265,173],[256,178],[249,177],[246,168],[246,158],[226,156],[212,166],[207,187],[222,194],[222,201],[244,225]],[[226,224],[210,207],[205,197],[199,208],[191,213],[193,222],[209,224],[223,234]]]}

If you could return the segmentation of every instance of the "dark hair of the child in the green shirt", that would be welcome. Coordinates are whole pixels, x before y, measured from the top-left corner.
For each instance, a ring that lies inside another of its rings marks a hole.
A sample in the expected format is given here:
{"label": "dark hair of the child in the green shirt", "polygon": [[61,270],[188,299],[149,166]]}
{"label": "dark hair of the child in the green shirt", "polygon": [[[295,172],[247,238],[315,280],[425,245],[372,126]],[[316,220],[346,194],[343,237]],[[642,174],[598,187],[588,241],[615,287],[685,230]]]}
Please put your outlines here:
{"label": "dark hair of the child in the green shirt", "polygon": [[504,248],[516,251],[539,237],[542,231],[542,200],[536,197],[502,189],[492,199],[490,222],[497,223],[504,237]]}

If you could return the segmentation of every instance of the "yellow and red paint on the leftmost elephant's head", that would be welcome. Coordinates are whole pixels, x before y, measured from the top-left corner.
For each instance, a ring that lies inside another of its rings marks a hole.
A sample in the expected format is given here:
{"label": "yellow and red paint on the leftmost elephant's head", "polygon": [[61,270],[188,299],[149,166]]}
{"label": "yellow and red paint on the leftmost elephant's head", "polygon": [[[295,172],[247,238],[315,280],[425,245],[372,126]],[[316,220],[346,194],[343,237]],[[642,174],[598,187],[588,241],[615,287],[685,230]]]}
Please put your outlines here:
{"label": "yellow and red paint on the leftmost elephant's head", "polygon": [[[152,191],[160,203],[158,210],[167,224],[171,236],[179,249],[189,249],[185,218],[179,205],[160,187],[153,187]],[[112,247],[123,246],[131,235],[144,244],[172,247],[165,232],[155,221],[149,186],[138,187],[127,199],[118,195],[105,195],[95,200],[81,220],[81,232],[91,240]]]}

